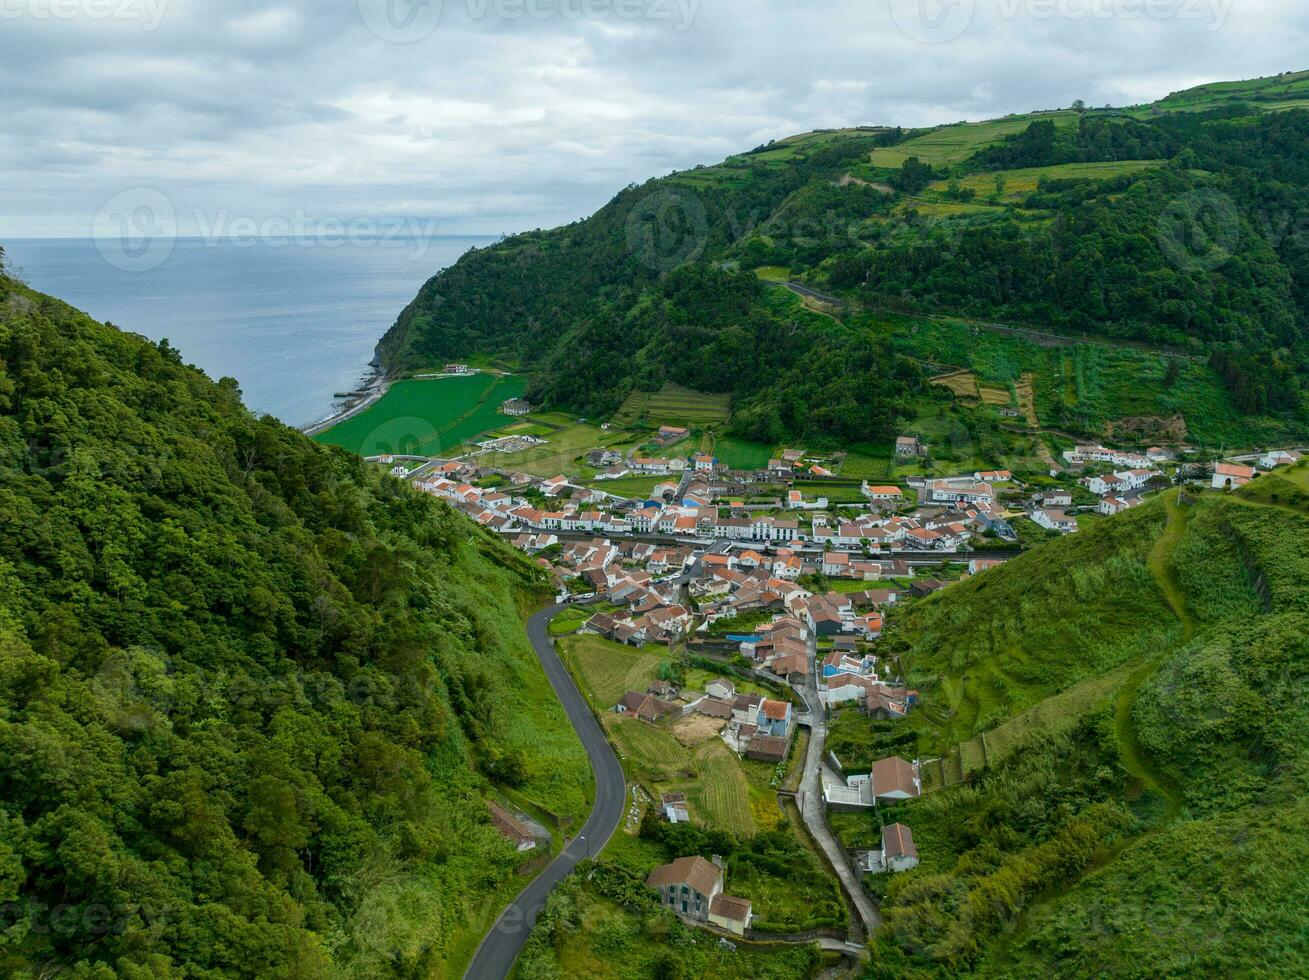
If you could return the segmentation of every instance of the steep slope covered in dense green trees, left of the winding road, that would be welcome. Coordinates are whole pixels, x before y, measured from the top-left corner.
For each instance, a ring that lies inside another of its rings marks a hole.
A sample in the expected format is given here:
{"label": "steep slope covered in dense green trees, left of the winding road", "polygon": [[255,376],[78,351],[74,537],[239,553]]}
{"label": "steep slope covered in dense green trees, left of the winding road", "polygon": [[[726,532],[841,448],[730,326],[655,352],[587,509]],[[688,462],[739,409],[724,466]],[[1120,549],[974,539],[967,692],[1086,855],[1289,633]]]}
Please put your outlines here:
{"label": "steep slope covered in dense green trees, left of the winding road", "polygon": [[530,564],[0,276],[0,973],[458,975],[589,768]]}

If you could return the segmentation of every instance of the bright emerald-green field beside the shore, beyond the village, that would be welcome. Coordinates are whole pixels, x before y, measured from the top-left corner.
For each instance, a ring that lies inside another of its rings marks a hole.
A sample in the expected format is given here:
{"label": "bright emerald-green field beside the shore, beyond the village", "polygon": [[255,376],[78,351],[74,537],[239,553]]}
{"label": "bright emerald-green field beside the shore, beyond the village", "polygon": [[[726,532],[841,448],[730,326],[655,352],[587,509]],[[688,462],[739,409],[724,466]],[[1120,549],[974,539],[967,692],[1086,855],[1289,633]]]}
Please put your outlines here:
{"label": "bright emerald-green field beside the shore, beyond the village", "polygon": [[398,381],[368,411],[314,438],[365,457],[440,455],[508,421],[500,403],[526,386],[526,378],[492,374]]}

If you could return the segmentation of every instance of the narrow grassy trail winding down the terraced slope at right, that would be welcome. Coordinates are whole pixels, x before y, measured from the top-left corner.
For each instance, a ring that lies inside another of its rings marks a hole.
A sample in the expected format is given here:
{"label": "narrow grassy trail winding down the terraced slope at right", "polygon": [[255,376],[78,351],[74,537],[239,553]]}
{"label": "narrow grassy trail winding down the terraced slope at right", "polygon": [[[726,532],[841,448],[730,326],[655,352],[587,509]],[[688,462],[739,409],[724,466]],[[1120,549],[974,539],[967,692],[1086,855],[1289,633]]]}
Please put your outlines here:
{"label": "narrow grassy trail winding down the terraced slope at right", "polygon": [[[1177,570],[1173,567],[1173,553],[1186,534],[1186,512],[1179,499],[1179,492],[1169,493],[1164,497],[1164,505],[1168,508],[1168,526],[1151,548],[1145,564],[1155,577],[1160,591],[1164,594],[1164,601],[1168,602],[1173,615],[1182,624],[1181,645],[1186,645],[1195,637],[1195,619],[1186,608],[1186,594],[1182,591]],[[1153,789],[1168,799],[1168,813],[1160,822],[1160,827],[1177,819],[1182,813],[1185,797],[1177,780],[1155,767],[1141,748],[1140,739],[1136,737],[1136,729],[1132,725],[1132,708],[1136,705],[1141,687],[1155,676],[1162,662],[1164,657],[1155,657],[1134,671],[1127,683],[1123,684],[1122,691],[1119,691],[1118,704],[1114,710],[1114,729],[1118,735],[1123,768],[1143,788]]]}

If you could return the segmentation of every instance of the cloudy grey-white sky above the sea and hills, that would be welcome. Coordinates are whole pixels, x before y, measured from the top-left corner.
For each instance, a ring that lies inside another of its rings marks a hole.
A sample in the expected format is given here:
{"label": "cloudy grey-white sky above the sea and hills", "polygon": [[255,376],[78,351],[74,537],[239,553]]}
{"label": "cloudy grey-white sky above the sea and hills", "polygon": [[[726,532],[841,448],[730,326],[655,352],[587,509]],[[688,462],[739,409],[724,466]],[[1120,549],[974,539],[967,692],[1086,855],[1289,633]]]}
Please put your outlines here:
{"label": "cloudy grey-white sky above the sea and hills", "polygon": [[513,232],[818,127],[1302,68],[1302,0],[0,0],[0,239],[143,194]]}

